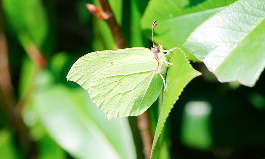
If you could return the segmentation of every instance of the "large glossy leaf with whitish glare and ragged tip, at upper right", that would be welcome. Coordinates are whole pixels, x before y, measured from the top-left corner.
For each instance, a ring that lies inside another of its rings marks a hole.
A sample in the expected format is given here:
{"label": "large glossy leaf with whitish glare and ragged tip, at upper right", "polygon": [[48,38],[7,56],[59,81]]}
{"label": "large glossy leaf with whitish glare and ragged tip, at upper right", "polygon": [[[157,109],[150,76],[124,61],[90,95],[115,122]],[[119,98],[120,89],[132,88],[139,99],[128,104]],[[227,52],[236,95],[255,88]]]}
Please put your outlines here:
{"label": "large glossy leaf with whitish glare and ragged tip, at upper right", "polygon": [[265,66],[265,1],[239,0],[201,24],[184,46],[220,82],[253,87]]}

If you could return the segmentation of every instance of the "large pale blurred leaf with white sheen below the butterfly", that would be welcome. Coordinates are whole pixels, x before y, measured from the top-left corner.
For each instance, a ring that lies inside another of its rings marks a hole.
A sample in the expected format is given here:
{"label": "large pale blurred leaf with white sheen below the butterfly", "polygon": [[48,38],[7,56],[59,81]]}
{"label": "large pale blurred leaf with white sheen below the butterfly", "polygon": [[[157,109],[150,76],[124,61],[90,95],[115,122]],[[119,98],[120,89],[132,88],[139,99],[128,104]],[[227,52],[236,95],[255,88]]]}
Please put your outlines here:
{"label": "large pale blurred leaf with white sheen below the butterfly", "polygon": [[127,118],[107,120],[82,88],[42,88],[33,103],[52,138],[74,157],[136,158]]}

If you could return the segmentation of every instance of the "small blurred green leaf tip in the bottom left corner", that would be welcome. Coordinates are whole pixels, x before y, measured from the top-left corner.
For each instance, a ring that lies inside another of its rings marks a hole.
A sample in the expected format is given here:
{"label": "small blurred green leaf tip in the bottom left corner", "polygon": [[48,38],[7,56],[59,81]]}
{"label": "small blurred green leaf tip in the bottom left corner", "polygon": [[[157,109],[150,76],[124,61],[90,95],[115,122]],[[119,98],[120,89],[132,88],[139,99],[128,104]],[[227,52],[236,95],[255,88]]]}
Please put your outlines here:
{"label": "small blurred green leaf tip in the bottom left corner", "polygon": [[12,137],[8,129],[0,130],[0,158],[16,159],[19,157]]}

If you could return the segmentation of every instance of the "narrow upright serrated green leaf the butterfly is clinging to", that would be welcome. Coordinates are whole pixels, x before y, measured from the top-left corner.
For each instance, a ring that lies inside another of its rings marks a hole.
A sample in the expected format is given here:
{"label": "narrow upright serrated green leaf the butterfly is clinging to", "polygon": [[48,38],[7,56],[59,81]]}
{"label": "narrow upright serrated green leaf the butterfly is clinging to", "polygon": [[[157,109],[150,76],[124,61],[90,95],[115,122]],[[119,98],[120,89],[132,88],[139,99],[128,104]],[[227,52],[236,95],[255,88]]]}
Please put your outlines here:
{"label": "narrow upright serrated green leaf the butterfly is clinging to", "polygon": [[[176,49],[170,54],[170,63],[173,63],[168,67],[166,76],[167,91],[163,96],[163,103],[158,118],[158,124],[155,130],[155,136],[152,146],[152,154],[159,151],[155,145],[159,142],[158,138],[164,127],[165,121],[173,108],[173,105],[178,100],[183,88],[195,77],[201,75],[201,72],[193,69],[189,61],[186,59],[185,54],[180,49]],[[151,158],[152,158],[151,154]]]}

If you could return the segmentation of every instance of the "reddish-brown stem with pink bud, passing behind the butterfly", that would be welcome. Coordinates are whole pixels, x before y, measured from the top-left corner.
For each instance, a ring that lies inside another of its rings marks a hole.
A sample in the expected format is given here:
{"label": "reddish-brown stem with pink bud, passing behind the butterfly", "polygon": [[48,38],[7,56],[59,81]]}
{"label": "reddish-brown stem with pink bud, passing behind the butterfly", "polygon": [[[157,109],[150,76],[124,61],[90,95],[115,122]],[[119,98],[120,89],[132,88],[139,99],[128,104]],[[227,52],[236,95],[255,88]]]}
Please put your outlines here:
{"label": "reddish-brown stem with pink bud, passing behind the butterfly", "polygon": [[[96,16],[103,17],[102,19],[104,19],[107,22],[112,32],[113,38],[117,44],[117,47],[119,49],[127,48],[127,44],[125,42],[125,37],[123,36],[122,29],[118,26],[117,21],[115,17],[113,16],[113,12],[110,8],[108,1],[98,0],[98,2],[102,8],[102,12],[100,16],[99,14],[97,14]],[[89,10],[91,11],[91,8]],[[97,11],[97,9],[94,8],[94,11]],[[142,142],[143,142],[143,152],[145,155],[145,159],[149,159],[151,155],[153,136],[152,136],[151,129],[150,129],[148,111],[145,111],[143,114],[139,115],[137,119],[138,119],[138,128],[139,128],[140,135],[141,135]]]}

